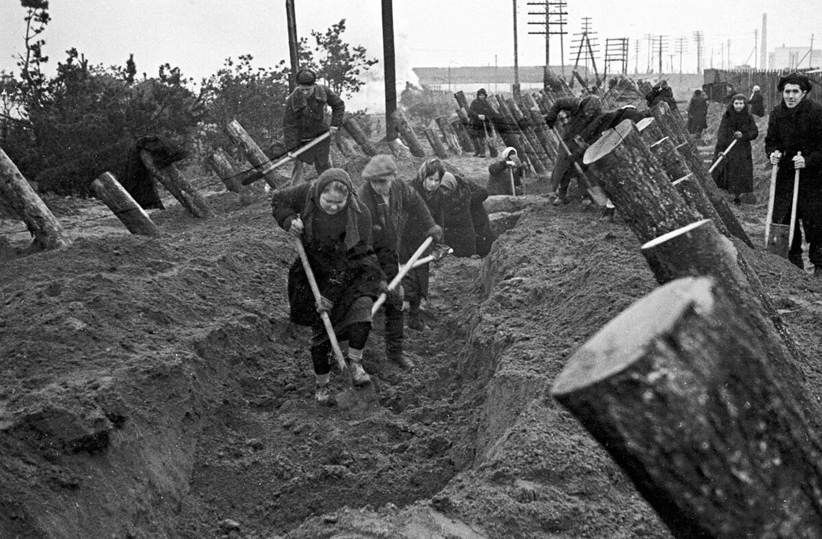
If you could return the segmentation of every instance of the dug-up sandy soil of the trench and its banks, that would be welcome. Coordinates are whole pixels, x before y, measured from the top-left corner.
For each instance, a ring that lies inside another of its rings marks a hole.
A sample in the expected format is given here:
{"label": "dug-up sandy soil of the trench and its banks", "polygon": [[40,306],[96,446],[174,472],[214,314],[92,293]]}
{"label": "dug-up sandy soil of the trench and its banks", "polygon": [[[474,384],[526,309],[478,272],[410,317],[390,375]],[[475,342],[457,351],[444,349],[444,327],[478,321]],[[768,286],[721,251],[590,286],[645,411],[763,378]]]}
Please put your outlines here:
{"label": "dug-up sandy soil of the trench and its banks", "polygon": [[[449,160],[481,181],[492,162]],[[73,245],[16,258],[27,235],[2,221],[0,537],[670,537],[548,394],[657,286],[618,217],[529,195],[487,259],[433,270],[430,328],[407,331],[417,368],[386,362],[378,317],[374,387],[320,408],[269,193],[196,182],[219,216],[171,199],[151,214],[160,238],[96,200],[46,197]],[[735,210],[760,238],[761,203]],[[819,357],[820,280],[737,247]],[[800,367],[819,398],[819,367]]]}

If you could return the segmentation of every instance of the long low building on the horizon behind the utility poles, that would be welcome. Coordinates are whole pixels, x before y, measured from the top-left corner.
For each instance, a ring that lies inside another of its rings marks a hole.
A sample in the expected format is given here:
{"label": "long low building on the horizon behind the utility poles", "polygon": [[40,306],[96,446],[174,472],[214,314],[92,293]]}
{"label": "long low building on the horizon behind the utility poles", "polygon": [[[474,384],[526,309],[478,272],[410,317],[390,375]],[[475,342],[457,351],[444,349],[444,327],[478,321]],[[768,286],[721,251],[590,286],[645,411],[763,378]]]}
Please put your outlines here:
{"label": "long low building on the horizon behind the utility poles", "polygon": [[[571,78],[573,66],[565,67],[565,78]],[[554,74],[561,76],[561,66],[551,66]],[[514,67],[512,66],[479,66],[479,67],[414,67],[414,74],[420,85],[431,90],[450,92],[464,91],[472,95],[480,88],[485,88],[488,94],[510,94],[514,83]],[[543,87],[543,66],[520,66],[520,89],[532,90]],[[577,67],[580,76],[588,77],[589,85],[593,85],[593,72],[585,67]]]}

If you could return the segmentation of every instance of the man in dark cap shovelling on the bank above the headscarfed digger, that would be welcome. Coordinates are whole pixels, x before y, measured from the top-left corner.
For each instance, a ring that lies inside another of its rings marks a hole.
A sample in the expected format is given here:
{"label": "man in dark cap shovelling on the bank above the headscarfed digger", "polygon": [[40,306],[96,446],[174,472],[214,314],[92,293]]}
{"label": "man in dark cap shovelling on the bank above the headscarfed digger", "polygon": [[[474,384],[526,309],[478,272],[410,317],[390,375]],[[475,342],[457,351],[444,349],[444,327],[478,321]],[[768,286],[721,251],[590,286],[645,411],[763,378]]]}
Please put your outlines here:
{"label": "man in dark cap shovelling on the bank above the headscarfed digger", "polygon": [[[331,108],[330,127],[326,122],[326,107]],[[283,114],[283,139],[285,148],[290,152],[314,140],[317,136],[330,131],[333,136],[343,123],[345,103],[326,85],[316,83],[316,73],[310,69],[301,69],[297,74],[297,88],[285,99]],[[303,164],[313,164],[317,176],[331,168],[329,152],[331,139],[326,138],[319,144],[299,154],[294,159],[291,171],[291,183],[302,182]]]}

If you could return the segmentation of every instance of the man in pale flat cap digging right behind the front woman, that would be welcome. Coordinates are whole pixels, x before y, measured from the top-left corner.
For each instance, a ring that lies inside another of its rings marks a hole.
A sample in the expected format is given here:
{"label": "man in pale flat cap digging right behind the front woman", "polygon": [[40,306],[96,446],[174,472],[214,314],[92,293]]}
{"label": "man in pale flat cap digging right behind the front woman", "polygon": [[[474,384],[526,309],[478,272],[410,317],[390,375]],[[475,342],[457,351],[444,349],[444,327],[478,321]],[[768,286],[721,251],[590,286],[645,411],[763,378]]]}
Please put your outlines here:
{"label": "man in pale flat cap digging right behind the front woman", "polygon": [[[386,279],[390,282],[399,273],[399,252],[417,250],[418,245],[404,246],[409,238],[432,236],[442,241],[442,228],[436,223],[418,192],[397,179],[397,165],[390,155],[378,154],[363,168],[365,184],[360,198],[372,214],[373,241]],[[407,257],[405,257],[407,260]],[[406,371],[413,362],[403,355],[404,291],[402,284],[388,293],[386,300],[386,357]]]}

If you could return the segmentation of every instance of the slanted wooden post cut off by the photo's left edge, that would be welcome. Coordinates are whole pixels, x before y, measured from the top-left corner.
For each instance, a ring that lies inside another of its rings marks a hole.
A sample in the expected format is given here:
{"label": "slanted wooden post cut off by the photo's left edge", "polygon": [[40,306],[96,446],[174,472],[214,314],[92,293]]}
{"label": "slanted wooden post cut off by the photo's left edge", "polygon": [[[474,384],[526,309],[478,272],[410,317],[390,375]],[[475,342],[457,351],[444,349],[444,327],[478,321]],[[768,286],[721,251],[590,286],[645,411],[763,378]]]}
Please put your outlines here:
{"label": "slanted wooden post cut off by the photo's left edge", "polygon": [[37,196],[29,182],[25,181],[17,165],[9,159],[2,148],[0,198],[6,200],[7,205],[11,206],[34,236],[32,246],[37,249],[58,249],[72,244],[58,220],[54,219],[51,210],[48,210],[48,206]]}

